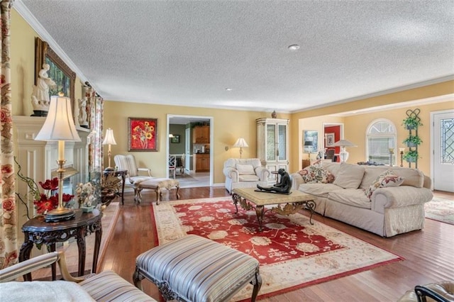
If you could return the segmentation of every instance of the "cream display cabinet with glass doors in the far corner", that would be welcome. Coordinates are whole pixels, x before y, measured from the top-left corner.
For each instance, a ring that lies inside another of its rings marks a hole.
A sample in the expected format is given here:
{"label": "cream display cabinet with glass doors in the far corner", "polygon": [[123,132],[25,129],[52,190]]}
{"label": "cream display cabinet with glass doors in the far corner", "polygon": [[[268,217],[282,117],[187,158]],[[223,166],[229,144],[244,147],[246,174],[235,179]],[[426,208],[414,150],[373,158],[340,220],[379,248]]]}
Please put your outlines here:
{"label": "cream display cabinet with glass doors in the far corner", "polygon": [[[281,118],[258,118],[257,157],[270,171],[285,169],[289,172],[289,120]],[[270,174],[275,181],[276,174]]]}

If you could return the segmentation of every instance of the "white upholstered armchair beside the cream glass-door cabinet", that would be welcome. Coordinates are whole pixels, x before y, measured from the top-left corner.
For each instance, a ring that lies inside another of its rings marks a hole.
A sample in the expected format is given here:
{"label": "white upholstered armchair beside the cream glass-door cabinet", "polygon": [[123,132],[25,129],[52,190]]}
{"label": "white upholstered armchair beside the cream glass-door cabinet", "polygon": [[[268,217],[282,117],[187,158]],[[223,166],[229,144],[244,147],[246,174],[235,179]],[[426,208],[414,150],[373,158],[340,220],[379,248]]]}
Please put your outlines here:
{"label": "white upholstered armchair beside the cream glass-door cabinet", "polygon": [[232,194],[236,188],[251,188],[258,184],[267,186],[270,171],[258,158],[229,158],[224,162],[223,174],[226,176],[226,189]]}

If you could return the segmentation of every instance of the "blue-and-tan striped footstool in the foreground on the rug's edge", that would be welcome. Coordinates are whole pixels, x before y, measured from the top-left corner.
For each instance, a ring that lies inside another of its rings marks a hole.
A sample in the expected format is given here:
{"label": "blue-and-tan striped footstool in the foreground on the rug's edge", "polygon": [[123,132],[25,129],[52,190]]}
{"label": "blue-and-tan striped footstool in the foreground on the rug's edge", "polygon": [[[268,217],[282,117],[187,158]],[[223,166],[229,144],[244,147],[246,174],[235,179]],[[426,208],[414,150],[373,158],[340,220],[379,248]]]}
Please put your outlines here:
{"label": "blue-and-tan striped footstool in the foreground on the rug's edge", "polygon": [[166,300],[228,301],[246,284],[253,284],[251,301],[262,286],[259,262],[231,247],[187,235],[154,247],[135,259],[134,285],[152,281]]}

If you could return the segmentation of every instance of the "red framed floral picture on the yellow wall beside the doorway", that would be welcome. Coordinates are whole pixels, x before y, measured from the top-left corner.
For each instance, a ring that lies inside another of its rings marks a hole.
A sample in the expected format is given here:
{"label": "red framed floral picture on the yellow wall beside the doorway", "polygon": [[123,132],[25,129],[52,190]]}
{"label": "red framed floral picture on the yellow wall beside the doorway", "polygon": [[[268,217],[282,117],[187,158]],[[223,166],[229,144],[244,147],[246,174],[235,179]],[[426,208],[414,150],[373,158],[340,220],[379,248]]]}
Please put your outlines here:
{"label": "red framed floral picture on the yellow wall beside the doorway", "polygon": [[157,151],[157,118],[128,118],[128,151]]}

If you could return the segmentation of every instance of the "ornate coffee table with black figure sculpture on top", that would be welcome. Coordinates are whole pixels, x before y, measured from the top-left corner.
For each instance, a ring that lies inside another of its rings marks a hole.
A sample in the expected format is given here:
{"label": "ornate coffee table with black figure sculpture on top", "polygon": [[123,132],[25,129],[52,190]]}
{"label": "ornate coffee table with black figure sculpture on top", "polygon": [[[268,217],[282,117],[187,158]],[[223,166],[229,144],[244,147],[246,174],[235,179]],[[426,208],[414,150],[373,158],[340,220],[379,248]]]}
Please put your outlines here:
{"label": "ornate coffee table with black figure sculpture on top", "polygon": [[[240,203],[241,208],[244,208],[246,211],[251,208],[255,209],[260,232],[262,231],[263,216],[266,211],[289,216],[290,214],[297,213],[297,211],[301,209],[308,209],[311,211],[309,223],[311,223],[311,225],[314,224],[312,222],[312,215],[314,215],[316,207],[314,196],[304,194],[301,191],[292,191],[292,194],[286,195],[258,192],[255,191],[255,188],[233,189],[232,199],[233,204],[235,204],[236,207],[235,213],[238,213],[238,203]],[[284,207],[281,206],[283,203],[285,203]],[[265,208],[265,206],[272,205],[277,206]]]}

